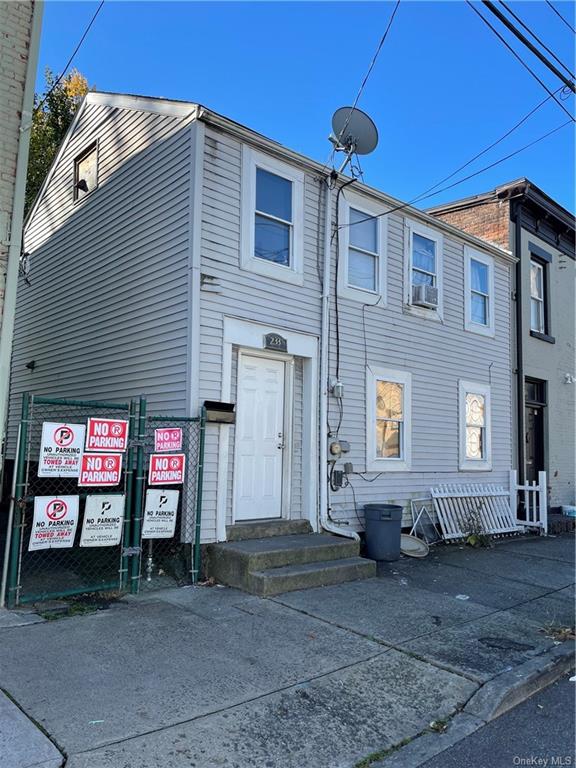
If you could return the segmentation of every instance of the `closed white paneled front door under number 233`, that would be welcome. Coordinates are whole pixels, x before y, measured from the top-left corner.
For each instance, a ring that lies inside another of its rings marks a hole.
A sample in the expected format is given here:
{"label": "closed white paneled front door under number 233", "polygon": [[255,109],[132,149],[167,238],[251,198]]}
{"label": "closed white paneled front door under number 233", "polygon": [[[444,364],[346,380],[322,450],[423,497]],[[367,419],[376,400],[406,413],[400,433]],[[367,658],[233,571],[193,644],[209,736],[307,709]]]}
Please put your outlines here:
{"label": "closed white paneled front door under number 233", "polygon": [[235,520],[282,515],[284,366],[282,360],[239,357]]}

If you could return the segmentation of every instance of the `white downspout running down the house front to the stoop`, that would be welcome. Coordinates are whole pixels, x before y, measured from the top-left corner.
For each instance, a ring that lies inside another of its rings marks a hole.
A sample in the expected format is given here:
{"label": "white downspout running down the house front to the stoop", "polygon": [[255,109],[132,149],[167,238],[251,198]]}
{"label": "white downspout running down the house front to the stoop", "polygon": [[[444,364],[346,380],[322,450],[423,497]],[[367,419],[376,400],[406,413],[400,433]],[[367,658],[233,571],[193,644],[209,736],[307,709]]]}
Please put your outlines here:
{"label": "white downspout running down the house front to the stoop", "polygon": [[328,518],[328,350],[330,346],[330,279],[332,256],[332,188],[325,180],[324,271],[322,275],[322,321],[320,331],[320,527],[329,533],[360,541],[356,531],[346,530]]}

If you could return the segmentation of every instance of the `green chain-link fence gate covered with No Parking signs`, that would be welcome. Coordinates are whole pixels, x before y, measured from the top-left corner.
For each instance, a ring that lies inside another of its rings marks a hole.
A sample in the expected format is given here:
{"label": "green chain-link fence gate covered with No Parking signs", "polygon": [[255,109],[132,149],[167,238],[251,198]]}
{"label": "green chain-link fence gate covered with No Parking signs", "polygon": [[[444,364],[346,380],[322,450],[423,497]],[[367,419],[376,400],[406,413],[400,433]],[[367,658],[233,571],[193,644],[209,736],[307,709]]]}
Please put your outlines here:
{"label": "green chain-link fence gate covered with No Parking signs", "polygon": [[[96,434],[90,446],[89,435],[104,428],[118,437]],[[148,416],[145,398],[109,403],[26,393],[2,604],[194,583],[204,428],[203,416]],[[176,461],[177,471],[152,477],[153,464]]]}

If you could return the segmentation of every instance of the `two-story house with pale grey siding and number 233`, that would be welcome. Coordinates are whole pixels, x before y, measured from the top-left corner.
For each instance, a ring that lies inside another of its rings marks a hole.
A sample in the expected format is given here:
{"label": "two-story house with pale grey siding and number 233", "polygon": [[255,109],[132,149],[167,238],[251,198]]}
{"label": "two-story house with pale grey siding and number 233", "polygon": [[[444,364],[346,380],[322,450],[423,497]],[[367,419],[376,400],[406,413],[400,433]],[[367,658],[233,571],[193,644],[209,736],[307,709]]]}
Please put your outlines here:
{"label": "two-story house with pale grey siding and number 233", "polygon": [[514,258],[347,181],[203,106],[88,94],[26,228],[14,409],[233,403],[207,430],[205,543],[507,485]]}

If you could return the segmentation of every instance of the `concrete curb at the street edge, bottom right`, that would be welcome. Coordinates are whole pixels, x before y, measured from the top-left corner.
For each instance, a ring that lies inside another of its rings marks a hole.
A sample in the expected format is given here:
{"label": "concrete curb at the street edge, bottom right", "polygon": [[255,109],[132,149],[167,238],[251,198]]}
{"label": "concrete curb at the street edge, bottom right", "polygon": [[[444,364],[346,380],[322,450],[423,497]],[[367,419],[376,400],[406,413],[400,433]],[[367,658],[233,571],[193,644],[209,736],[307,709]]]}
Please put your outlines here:
{"label": "concrete curb at the street edge, bottom right", "polygon": [[573,669],[574,647],[574,641],[565,641],[489,680],[450,720],[444,733],[426,731],[371,768],[419,768]]}

